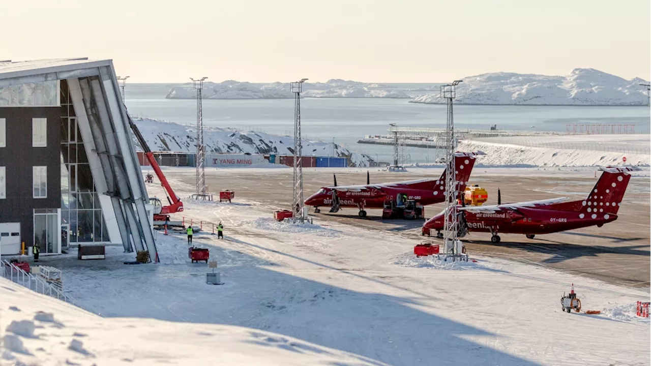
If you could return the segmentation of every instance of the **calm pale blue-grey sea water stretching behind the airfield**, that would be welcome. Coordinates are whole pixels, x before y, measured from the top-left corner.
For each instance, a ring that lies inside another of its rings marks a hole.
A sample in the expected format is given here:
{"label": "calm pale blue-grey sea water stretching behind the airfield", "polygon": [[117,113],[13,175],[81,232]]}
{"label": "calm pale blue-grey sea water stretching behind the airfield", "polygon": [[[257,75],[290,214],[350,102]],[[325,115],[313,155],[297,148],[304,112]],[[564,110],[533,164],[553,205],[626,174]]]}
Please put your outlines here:
{"label": "calm pale blue-grey sea water stretching behind the airfield", "polygon": [[[197,102],[165,99],[172,84],[128,84],[126,105],[132,115],[193,126]],[[294,100],[204,99],[205,126],[292,135]],[[398,126],[445,128],[446,106],[409,103],[409,99],[304,98],[301,99],[303,138],[334,142],[355,152],[391,162],[393,147],[358,144],[365,135],[387,135]],[[574,106],[454,106],[456,128],[564,132],[570,124],[635,124],[635,132],[651,133],[648,107]],[[571,127],[570,127],[571,128]],[[434,162],[437,149],[404,148],[406,162]]]}

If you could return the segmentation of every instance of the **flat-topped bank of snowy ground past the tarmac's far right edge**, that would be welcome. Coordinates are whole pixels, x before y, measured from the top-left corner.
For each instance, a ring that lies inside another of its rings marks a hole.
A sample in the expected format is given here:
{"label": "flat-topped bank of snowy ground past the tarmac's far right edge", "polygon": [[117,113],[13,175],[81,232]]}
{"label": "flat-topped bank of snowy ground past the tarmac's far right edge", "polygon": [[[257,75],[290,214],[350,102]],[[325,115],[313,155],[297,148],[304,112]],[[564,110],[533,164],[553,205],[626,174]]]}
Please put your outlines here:
{"label": "flat-topped bank of snowy ground past the tarmac's far right edge", "polygon": [[[461,151],[483,151],[488,166],[651,165],[651,135],[554,135],[465,139]],[[622,158],[626,158],[626,162]]]}

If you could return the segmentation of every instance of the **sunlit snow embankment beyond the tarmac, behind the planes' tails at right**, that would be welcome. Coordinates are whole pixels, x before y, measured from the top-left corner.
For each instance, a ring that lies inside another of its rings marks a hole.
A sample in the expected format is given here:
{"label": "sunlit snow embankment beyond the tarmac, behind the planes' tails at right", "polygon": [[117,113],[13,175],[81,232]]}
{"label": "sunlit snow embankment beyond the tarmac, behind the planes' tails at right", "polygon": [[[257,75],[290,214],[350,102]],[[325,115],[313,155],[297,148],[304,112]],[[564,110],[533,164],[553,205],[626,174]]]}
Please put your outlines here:
{"label": "sunlit snow embankment beyond the tarmac, behind the planes' tails at right", "polygon": [[[477,166],[602,167],[607,165],[651,165],[651,154],[629,154],[626,152],[620,152],[618,150],[626,150],[626,148],[618,148],[618,145],[616,144],[607,145],[607,142],[605,141],[602,143],[592,141],[583,145],[581,143],[575,143],[573,145],[572,143],[564,143],[559,140],[557,141],[557,145],[555,145],[555,143],[552,141],[548,141],[547,143],[549,145],[546,146],[544,143],[541,143],[539,141],[541,137],[531,137],[531,139],[534,138],[536,141],[530,141],[530,143],[528,143],[527,140],[515,139],[510,141],[512,143],[492,142],[490,139],[482,139],[482,141],[464,140],[458,145],[458,150],[481,150],[483,152],[486,152],[486,155],[480,156],[478,158]],[[530,146],[525,146],[524,144]],[[536,144],[538,144],[538,146],[535,146]],[[628,141],[629,146],[633,144],[634,141]],[[643,149],[639,151],[644,152]],[[623,157],[626,157],[626,162],[622,160]]]}

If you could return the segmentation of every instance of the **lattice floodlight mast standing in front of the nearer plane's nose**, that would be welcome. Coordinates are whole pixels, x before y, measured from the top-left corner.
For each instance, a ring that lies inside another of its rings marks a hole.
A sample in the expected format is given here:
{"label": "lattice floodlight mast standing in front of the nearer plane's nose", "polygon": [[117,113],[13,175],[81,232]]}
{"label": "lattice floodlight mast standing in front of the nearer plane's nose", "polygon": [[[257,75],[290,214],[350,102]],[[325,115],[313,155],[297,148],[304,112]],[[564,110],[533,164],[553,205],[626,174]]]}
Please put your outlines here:
{"label": "lattice floodlight mast standing in front of the nearer plane's nose", "polygon": [[463,80],[455,80],[451,84],[441,86],[441,97],[447,100],[447,124],[445,141],[445,217],[443,221],[443,247],[445,255],[456,258],[462,253],[457,253],[456,242],[459,233],[459,218],[456,200],[459,198],[459,182],[456,181],[456,167],[454,166],[454,152],[456,151],[456,137],[454,137],[454,113],[452,101],[456,98],[456,86]]}

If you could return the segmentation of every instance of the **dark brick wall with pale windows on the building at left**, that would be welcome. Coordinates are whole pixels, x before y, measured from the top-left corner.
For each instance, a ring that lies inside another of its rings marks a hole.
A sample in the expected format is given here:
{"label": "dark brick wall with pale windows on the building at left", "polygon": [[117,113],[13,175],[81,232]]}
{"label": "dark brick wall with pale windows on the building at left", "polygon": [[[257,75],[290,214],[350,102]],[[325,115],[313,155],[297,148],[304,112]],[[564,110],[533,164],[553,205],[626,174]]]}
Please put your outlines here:
{"label": "dark brick wall with pale windows on the building at left", "polygon": [[[61,207],[61,107],[0,107],[7,124],[7,147],[0,166],[7,172],[7,199],[0,199],[0,222],[20,222],[25,246],[34,241],[34,209]],[[32,119],[48,119],[48,146],[32,147]],[[48,197],[33,198],[35,165],[48,167]]]}

